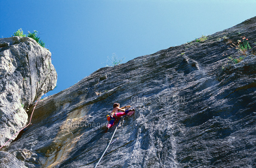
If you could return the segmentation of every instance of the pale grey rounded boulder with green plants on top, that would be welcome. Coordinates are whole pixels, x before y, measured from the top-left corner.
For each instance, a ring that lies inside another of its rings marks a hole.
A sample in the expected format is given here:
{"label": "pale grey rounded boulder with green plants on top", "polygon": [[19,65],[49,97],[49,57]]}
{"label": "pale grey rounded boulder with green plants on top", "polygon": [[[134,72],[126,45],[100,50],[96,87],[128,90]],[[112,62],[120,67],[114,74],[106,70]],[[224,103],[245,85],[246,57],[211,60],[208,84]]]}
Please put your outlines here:
{"label": "pale grey rounded boulder with green plants on top", "polygon": [[29,37],[0,39],[0,146],[27,124],[25,109],[56,81],[50,51]]}

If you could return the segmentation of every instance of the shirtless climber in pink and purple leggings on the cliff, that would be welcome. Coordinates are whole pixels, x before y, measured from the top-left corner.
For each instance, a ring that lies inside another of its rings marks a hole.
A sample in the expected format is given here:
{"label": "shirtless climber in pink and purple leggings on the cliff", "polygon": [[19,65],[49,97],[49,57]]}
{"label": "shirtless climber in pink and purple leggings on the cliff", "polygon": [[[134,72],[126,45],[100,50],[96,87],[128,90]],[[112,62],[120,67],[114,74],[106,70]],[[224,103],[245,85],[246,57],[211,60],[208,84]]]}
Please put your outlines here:
{"label": "shirtless climber in pink and purple leggings on the cliff", "polygon": [[[120,108],[119,103],[114,103],[114,105],[113,105],[114,109],[111,111],[110,115],[107,115],[107,120],[109,121],[109,123],[105,130],[105,133],[108,132],[108,129],[114,125],[114,121],[116,121],[119,117],[121,117],[123,115],[127,115],[127,113],[129,113],[130,111],[135,111],[135,109],[125,110],[125,108],[127,108],[127,107],[131,107],[131,106],[126,105],[126,106]],[[118,112],[118,111],[123,111],[123,112]]]}

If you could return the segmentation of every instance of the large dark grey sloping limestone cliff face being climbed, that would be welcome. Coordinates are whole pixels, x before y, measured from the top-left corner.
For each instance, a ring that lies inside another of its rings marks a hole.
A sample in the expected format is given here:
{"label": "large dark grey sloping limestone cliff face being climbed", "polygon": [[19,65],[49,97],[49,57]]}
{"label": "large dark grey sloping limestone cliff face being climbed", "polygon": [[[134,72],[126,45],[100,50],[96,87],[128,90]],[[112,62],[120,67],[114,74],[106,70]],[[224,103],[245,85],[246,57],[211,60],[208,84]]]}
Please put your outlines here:
{"label": "large dark grey sloping limestone cliff face being climbed", "polygon": [[[239,55],[230,45],[244,36],[252,49],[229,63],[227,56]],[[121,120],[99,168],[256,167],[254,42],[256,17],[205,41],[99,69],[38,102],[36,125],[0,151],[0,165],[93,168],[115,128],[103,133],[106,114],[118,102],[136,112]]]}

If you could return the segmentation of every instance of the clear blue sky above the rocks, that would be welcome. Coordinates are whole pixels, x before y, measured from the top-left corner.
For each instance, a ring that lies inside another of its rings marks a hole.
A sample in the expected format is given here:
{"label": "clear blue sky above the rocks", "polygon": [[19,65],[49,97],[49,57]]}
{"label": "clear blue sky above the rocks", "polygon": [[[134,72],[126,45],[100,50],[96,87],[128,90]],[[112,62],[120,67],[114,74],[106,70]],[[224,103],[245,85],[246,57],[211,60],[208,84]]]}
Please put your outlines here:
{"label": "clear blue sky above the rocks", "polygon": [[256,16],[255,0],[0,0],[0,38],[37,30],[52,53],[58,93],[115,53],[123,63]]}

